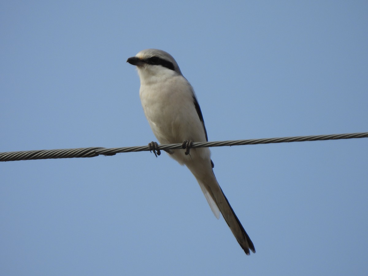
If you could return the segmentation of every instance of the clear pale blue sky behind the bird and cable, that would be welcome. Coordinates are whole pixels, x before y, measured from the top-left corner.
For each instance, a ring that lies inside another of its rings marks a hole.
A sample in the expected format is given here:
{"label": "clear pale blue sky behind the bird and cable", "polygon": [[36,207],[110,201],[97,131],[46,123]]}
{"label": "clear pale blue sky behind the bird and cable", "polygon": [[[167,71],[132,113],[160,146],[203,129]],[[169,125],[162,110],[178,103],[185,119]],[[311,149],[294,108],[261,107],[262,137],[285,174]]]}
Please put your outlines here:
{"label": "clear pale blue sky behind the bird and cable", "polygon": [[[0,151],[155,141],[169,52],[210,141],[368,131],[367,1],[1,1]],[[0,164],[1,275],[367,275],[368,138],[212,148],[256,254],[163,153]]]}

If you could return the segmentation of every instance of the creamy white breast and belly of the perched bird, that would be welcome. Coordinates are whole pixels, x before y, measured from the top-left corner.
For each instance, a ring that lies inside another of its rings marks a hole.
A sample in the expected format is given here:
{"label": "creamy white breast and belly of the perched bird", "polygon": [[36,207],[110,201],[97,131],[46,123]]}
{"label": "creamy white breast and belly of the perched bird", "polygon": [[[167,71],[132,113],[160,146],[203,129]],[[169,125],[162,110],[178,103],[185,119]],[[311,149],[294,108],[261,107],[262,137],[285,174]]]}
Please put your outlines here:
{"label": "creamy white breast and belly of the perched bird", "polygon": [[[206,141],[205,131],[194,106],[193,90],[187,79],[174,75],[149,83],[141,81],[139,91],[146,118],[160,144]],[[191,156],[184,150],[172,155],[180,163],[188,158],[209,158],[208,148],[192,149]]]}

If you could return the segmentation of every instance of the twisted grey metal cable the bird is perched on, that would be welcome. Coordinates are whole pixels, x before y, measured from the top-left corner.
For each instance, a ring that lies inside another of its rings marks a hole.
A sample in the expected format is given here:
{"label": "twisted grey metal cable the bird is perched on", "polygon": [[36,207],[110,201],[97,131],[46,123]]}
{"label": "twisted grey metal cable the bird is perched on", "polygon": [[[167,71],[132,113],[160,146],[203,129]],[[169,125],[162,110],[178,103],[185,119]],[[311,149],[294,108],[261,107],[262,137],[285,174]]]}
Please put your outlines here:
{"label": "twisted grey metal cable the bird is perched on", "polygon": [[[318,140],[337,140],[350,138],[368,138],[368,132],[329,134],[329,135],[311,135],[311,136],[294,136],[282,138],[263,138],[263,139],[246,139],[246,140],[230,140],[215,142],[193,142],[191,148],[203,148],[211,146],[238,146],[238,145],[255,145],[270,144],[284,142],[304,142]],[[157,150],[165,149],[183,149],[183,144],[165,144],[159,145]],[[137,152],[150,151],[149,146],[132,146],[124,148],[77,148],[77,149],[48,149],[35,151],[17,151],[17,152],[1,152],[0,161],[18,161],[18,160],[34,160],[34,159],[54,159],[54,158],[77,158],[77,157],[94,157],[98,155],[115,155],[121,152]]]}

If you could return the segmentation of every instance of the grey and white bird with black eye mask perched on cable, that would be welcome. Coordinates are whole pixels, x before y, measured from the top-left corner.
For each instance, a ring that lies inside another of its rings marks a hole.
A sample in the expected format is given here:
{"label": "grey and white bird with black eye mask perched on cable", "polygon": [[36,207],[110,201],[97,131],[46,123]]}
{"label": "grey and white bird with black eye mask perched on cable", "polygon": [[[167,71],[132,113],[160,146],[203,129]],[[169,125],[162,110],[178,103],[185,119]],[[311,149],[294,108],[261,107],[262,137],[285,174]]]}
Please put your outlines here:
{"label": "grey and white bird with black eye mask perched on cable", "polygon": [[[188,167],[197,179],[212,212],[217,219],[222,214],[245,254],[250,255],[250,251],[255,253],[250,237],[216,180],[209,148],[190,149],[192,142],[206,142],[208,136],[197,96],[175,59],[163,50],[145,49],[128,58],[127,62],[137,68],[141,82],[139,97],[159,143],[183,143],[186,150],[170,149],[166,152],[178,163]],[[149,146],[156,154],[157,142]]]}

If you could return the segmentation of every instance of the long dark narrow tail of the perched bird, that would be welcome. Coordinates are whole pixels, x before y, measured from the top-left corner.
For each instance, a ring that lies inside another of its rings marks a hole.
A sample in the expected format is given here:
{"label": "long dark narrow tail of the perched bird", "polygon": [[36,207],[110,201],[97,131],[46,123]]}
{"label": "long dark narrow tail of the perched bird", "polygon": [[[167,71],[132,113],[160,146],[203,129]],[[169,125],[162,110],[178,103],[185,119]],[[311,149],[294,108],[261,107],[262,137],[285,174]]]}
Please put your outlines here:
{"label": "long dark narrow tail of the perched bird", "polygon": [[219,183],[216,180],[215,174],[212,172],[212,176],[208,176],[205,179],[206,181],[198,180],[199,185],[201,186],[202,190],[205,189],[212,197],[213,201],[215,201],[227,225],[229,225],[231,232],[233,232],[236,240],[240,244],[241,248],[243,248],[245,254],[250,255],[250,250],[255,253],[255,248],[250,237],[248,236],[247,232],[245,232],[244,227],[241,225],[238,217],[235,215],[233,208],[231,208],[229,201],[227,200]]}

